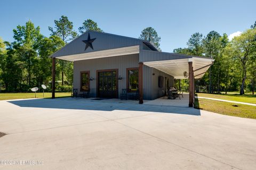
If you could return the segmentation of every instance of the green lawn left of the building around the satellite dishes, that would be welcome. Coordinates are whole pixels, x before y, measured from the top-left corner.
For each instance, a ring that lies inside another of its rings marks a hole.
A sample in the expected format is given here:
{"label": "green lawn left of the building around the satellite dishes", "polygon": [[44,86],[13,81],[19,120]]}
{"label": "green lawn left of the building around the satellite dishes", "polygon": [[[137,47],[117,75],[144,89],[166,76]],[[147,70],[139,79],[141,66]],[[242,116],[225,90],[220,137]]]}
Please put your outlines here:
{"label": "green lawn left of the building around the satellite dishes", "polygon": [[[56,98],[70,96],[70,92],[55,93]],[[44,93],[44,98],[51,98],[52,93]],[[0,93],[0,100],[35,98],[35,93]],[[36,93],[36,98],[43,98],[43,93]]]}

